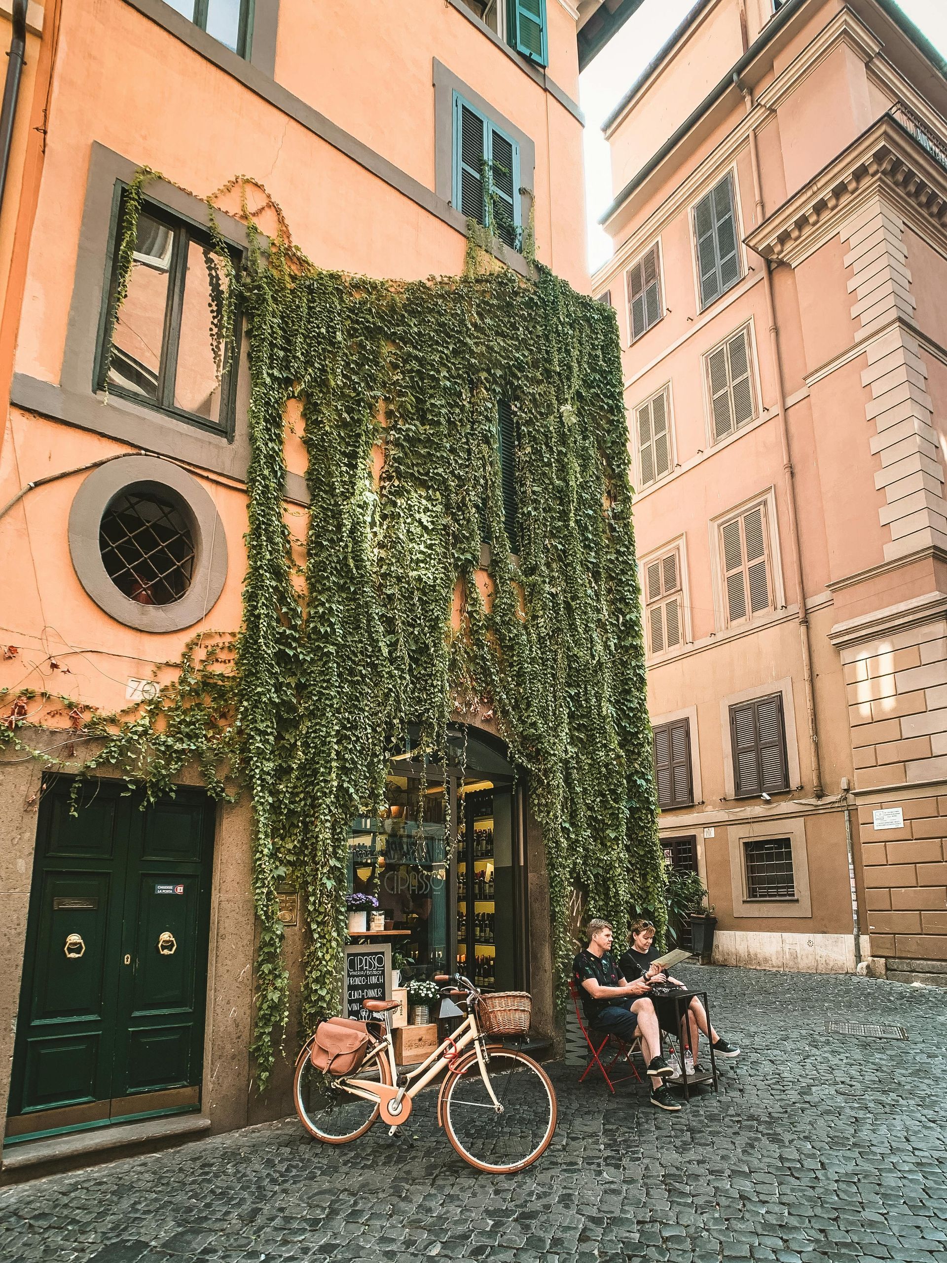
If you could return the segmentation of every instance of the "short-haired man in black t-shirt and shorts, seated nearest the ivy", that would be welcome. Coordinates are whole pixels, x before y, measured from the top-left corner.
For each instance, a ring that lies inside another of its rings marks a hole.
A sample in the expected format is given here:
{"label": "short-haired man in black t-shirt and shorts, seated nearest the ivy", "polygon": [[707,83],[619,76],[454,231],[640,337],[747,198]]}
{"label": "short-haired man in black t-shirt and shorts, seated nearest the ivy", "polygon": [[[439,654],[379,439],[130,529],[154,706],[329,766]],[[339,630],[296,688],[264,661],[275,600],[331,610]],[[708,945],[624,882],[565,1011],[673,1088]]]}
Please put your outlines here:
{"label": "short-haired man in black t-shirt and shorts, seated nearest the ivy", "polygon": [[588,946],[572,962],[572,976],[582,997],[582,1009],[590,1027],[616,1034],[625,1043],[641,1041],[641,1053],[652,1079],[652,1104],[658,1109],[679,1110],[662,1082],[673,1074],[660,1055],[660,1029],[650,986],[639,980],[626,983],[611,955],[612,931],[607,921],[588,922]]}

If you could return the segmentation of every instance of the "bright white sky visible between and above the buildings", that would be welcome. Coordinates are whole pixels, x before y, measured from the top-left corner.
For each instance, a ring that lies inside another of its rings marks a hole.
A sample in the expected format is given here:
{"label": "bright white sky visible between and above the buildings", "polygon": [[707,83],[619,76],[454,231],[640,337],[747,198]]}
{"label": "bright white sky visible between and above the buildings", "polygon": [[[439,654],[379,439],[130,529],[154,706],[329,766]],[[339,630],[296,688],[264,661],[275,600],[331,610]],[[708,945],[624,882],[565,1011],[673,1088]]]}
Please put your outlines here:
{"label": "bright white sky visible between and above the buildings", "polygon": [[[611,240],[599,216],[611,201],[609,145],[601,126],[648,62],[681,25],[696,0],[644,0],[605,51],[580,76],[580,101],[586,115],[586,206],[588,265],[592,272],[611,256]],[[902,9],[947,56],[947,0],[898,0]]]}

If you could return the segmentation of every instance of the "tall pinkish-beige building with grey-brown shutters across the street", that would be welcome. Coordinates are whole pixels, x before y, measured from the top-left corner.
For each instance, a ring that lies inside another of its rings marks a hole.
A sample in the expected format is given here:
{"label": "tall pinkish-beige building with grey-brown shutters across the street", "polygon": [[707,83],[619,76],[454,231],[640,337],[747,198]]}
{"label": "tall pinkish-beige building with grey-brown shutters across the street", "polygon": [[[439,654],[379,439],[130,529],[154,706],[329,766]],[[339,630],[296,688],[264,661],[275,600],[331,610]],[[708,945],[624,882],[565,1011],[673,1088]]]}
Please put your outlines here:
{"label": "tall pinkish-beige building with grey-brown shutters across the street", "polygon": [[706,0],[605,126],[662,837],[726,964],[947,971],[943,75],[890,0]]}

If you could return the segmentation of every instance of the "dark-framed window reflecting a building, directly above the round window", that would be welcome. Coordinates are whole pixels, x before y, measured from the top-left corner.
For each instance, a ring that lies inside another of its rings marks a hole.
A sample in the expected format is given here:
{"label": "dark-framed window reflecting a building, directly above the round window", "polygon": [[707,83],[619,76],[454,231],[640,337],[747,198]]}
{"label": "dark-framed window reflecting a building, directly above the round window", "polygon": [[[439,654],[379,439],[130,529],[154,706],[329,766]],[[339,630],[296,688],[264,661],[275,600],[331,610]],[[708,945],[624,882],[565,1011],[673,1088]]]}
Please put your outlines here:
{"label": "dark-framed window reflecting a building, directly above the round window", "polygon": [[[110,312],[117,254],[116,237]],[[236,361],[236,350],[231,355],[229,346],[215,341],[212,320],[212,308],[221,313],[225,287],[210,237],[148,203],[139,216],[128,294],[115,318],[111,350],[106,355],[102,347],[100,354],[100,389],[229,432],[236,374],[223,371],[223,365]]]}

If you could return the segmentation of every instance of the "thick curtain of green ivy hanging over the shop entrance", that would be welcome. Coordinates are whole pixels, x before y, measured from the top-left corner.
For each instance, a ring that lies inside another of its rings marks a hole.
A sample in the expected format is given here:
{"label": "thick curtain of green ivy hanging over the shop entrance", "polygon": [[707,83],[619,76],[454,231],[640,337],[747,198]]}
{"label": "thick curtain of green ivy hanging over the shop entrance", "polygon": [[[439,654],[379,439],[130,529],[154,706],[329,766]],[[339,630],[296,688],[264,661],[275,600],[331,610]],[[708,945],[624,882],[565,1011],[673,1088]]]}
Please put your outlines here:
{"label": "thick curtain of green ivy hanging over the shop entrance", "polygon": [[[529,282],[479,266],[475,241],[462,277],[398,283],[319,269],[283,232],[261,249],[247,218],[240,275],[215,231],[251,375],[244,621],[232,693],[205,697],[232,706],[234,722],[221,744],[220,725],[191,716],[187,748],[220,793],[213,769],[226,754],[253,799],[253,1052],[265,1084],[289,1004],[277,888],[290,879],[302,892],[308,1028],[338,1004],[350,822],[384,802],[409,731],[418,755],[437,760],[452,717],[491,714],[542,829],[561,976],[573,888],[617,926],[635,907],[660,919],[664,865],[615,313],[539,264]],[[227,297],[213,322],[221,362],[232,312]],[[302,575],[283,500],[290,399],[308,455]],[[515,554],[499,400],[518,436]],[[155,714],[135,722],[134,740],[112,736],[120,748],[106,750],[148,775],[154,755],[133,758],[129,743],[143,748],[168,726]],[[217,743],[208,754],[200,731]]]}

